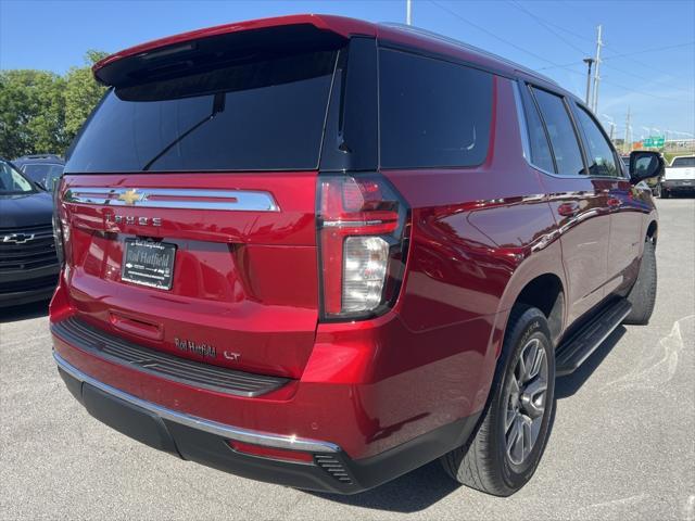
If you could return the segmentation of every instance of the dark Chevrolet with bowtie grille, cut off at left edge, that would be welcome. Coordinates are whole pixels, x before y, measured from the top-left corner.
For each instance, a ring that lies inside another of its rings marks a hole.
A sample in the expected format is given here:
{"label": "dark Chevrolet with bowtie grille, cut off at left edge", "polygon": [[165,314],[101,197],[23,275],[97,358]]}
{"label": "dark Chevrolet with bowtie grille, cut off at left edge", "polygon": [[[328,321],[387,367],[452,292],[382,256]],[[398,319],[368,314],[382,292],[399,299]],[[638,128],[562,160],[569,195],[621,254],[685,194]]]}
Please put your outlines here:
{"label": "dark Chevrolet with bowtie grille, cut off at left edge", "polygon": [[0,158],[0,307],[48,300],[58,282],[53,201]]}

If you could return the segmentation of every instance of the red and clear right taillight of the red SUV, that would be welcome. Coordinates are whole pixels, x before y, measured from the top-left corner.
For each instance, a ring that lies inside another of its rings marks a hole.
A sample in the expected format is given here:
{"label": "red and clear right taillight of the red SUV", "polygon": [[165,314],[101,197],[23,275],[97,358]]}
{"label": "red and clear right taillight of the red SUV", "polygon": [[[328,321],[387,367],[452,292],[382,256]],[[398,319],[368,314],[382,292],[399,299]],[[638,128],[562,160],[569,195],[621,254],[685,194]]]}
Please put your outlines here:
{"label": "red and clear right taillight of the red SUV", "polygon": [[405,201],[377,174],[321,175],[317,206],[321,318],[384,313],[405,268]]}

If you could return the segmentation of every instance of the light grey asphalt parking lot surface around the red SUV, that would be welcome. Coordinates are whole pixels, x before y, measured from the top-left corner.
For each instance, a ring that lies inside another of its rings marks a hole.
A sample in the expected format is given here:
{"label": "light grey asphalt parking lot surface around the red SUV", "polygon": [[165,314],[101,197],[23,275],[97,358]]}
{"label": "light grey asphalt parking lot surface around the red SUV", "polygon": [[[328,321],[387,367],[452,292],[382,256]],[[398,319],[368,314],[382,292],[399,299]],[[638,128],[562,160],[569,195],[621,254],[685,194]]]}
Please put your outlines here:
{"label": "light grey asphalt parking lot surface around the red SUV", "polygon": [[544,459],[518,494],[456,486],[434,461],[329,496],[244,480],[92,419],[59,378],[46,303],[0,310],[1,519],[695,519],[695,200],[659,200],[658,301],[558,380]]}

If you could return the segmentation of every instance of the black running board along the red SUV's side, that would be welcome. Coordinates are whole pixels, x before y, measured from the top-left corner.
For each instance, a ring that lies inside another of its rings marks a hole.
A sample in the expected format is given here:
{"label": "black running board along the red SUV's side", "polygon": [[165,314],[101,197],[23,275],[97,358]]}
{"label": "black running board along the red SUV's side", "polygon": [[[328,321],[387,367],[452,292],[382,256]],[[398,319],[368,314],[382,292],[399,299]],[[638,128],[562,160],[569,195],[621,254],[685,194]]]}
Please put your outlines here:
{"label": "black running board along the red SUV's side", "polygon": [[555,376],[574,372],[604,340],[622,323],[632,305],[621,298],[596,314],[555,352]]}

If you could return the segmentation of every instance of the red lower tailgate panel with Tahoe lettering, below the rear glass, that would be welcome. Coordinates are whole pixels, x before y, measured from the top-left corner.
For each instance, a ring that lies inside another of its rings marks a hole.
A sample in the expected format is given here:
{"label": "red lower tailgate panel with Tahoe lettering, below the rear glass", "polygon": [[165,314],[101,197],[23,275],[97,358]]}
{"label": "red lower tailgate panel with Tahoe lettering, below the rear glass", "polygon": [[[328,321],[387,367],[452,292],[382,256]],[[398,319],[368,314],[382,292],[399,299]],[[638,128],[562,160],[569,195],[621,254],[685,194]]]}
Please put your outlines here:
{"label": "red lower tailgate panel with Tahoe lettering, below the rear glass", "polygon": [[[66,176],[73,304],[153,348],[296,378],[317,321],[315,186],[314,171]],[[197,195],[204,190],[229,199]],[[114,206],[123,193],[148,198]],[[264,194],[276,208],[243,209],[244,194]],[[148,205],[155,201],[179,207]],[[175,246],[169,290],[123,280],[124,247],[136,238]]]}

